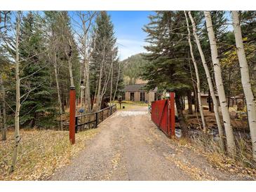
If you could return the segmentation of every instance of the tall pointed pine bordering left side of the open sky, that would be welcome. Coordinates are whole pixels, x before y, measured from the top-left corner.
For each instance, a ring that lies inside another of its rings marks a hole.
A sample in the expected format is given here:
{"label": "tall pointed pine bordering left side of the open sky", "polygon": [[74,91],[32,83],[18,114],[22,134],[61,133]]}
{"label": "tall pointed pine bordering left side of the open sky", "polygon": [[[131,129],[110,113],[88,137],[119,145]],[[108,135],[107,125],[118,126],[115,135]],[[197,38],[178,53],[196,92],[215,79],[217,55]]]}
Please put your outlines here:
{"label": "tall pointed pine bordering left side of the open sky", "polygon": [[[102,99],[110,95],[111,70],[116,74],[119,67],[117,58],[116,37],[114,36],[114,25],[106,11],[101,11],[95,20],[93,29],[93,50],[90,62],[90,90],[95,100],[94,110],[100,109]],[[113,82],[112,82],[113,83]]]}

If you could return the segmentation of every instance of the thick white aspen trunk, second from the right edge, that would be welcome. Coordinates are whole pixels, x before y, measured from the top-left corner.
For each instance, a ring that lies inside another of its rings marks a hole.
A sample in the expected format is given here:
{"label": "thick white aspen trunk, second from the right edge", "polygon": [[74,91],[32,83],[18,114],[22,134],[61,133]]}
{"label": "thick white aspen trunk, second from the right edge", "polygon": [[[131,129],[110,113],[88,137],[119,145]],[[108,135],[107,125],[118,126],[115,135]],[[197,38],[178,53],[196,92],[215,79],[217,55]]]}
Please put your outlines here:
{"label": "thick white aspen trunk, second from the right edge", "polygon": [[236,151],[236,146],[234,142],[233,129],[231,127],[229,109],[227,107],[227,101],[226,101],[226,96],[224,92],[224,85],[222,81],[222,71],[220,68],[220,60],[217,55],[217,42],[216,42],[215,34],[213,31],[213,22],[210,16],[210,11],[204,11],[204,15],[206,18],[206,27],[207,27],[208,37],[210,41],[210,52],[213,60],[215,82],[216,82],[217,92],[220,100],[220,108],[222,109],[224,128],[227,136],[227,151],[229,155],[232,156]]}

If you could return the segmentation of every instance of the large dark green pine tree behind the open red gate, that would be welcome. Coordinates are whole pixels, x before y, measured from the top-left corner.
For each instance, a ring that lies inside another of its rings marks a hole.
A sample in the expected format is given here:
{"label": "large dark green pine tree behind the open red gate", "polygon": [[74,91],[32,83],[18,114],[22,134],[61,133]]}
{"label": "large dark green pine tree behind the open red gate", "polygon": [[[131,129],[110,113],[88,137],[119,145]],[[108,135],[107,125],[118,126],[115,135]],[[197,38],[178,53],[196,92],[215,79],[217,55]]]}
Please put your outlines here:
{"label": "large dark green pine tree behind the open red gate", "polygon": [[144,27],[148,37],[149,51],[145,58],[149,64],[144,67],[143,78],[148,80],[147,90],[175,91],[175,102],[182,127],[187,135],[187,124],[182,114],[181,99],[191,90],[187,55],[187,25],[183,11],[157,11],[149,16],[150,22]]}

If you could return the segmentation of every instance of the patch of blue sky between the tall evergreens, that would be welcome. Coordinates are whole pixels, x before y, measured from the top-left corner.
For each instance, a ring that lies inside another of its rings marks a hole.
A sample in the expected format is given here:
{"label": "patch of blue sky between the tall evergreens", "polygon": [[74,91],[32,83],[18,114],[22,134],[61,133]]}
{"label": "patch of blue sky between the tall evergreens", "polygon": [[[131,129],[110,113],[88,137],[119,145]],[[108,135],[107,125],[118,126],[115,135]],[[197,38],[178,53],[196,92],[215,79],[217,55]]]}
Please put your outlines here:
{"label": "patch of blue sky between the tall evergreens", "polygon": [[148,15],[153,11],[107,11],[114,24],[121,60],[145,52],[143,46],[147,34],[142,27],[149,22]]}

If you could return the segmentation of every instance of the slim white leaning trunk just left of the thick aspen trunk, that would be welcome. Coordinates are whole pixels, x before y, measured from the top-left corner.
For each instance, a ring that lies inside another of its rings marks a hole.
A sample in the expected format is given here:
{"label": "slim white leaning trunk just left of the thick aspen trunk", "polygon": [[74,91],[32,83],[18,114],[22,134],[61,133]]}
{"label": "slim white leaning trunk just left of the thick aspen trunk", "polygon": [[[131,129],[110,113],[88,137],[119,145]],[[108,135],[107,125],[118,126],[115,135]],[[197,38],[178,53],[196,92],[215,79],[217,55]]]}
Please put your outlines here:
{"label": "slim white leaning trunk just left of the thick aspen trunk", "polygon": [[219,131],[219,135],[220,135],[220,146],[222,148],[222,151],[224,151],[224,131],[222,128],[222,123],[220,122],[220,114],[219,114],[219,107],[218,107],[218,103],[217,103],[217,98],[215,96],[215,92],[213,89],[213,82],[210,78],[210,71],[208,69],[208,66],[206,64],[206,58],[203,54],[203,50],[201,48],[201,44],[198,38],[198,35],[196,34],[196,23],[194,22],[194,18],[191,15],[191,11],[189,11],[189,18],[191,20],[192,23],[192,27],[193,27],[193,35],[194,35],[194,39],[196,40],[196,46],[198,48],[202,63],[203,63],[203,69],[206,71],[206,78],[207,78],[207,82],[209,85],[209,89],[210,89],[210,96],[213,99],[213,109],[214,109],[214,114],[215,114],[215,119],[216,119],[216,123],[217,123],[217,128]]}

